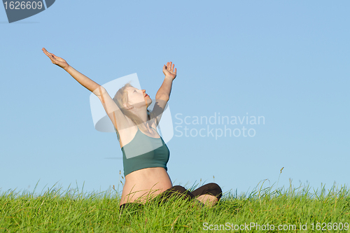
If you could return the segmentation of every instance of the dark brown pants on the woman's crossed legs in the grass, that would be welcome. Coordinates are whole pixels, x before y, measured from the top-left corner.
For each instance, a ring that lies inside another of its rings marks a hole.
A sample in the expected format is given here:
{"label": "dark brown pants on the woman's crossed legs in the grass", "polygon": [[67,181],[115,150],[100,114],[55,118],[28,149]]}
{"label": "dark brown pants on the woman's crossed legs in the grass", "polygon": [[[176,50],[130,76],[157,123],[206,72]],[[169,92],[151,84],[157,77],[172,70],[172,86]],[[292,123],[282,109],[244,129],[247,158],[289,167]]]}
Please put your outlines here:
{"label": "dark brown pants on the woman's crossed legs in the grass", "polygon": [[[192,200],[196,199],[200,195],[212,195],[214,197],[217,197],[219,200],[223,196],[222,192],[223,191],[221,190],[220,186],[216,183],[207,183],[207,185],[203,185],[202,187],[197,188],[197,190],[194,190],[193,192],[186,190],[186,188],[183,188],[180,185],[176,185],[172,188],[165,190],[165,192],[160,193],[160,195],[152,199],[151,202],[162,204],[164,202],[167,202],[171,197],[179,197],[180,199]],[[132,206],[140,207],[143,206],[143,204],[128,202],[119,207],[120,209],[126,209]]]}

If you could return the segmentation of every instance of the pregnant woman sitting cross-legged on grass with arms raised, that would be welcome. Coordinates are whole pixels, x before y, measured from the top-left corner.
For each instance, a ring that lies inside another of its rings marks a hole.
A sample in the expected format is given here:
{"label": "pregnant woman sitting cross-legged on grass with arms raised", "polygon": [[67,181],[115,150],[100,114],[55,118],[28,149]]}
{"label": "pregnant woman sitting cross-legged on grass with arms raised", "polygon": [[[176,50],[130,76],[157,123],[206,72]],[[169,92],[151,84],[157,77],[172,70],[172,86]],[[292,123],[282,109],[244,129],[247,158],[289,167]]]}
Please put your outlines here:
{"label": "pregnant woman sitting cross-legged on grass with arms raised", "polygon": [[153,111],[149,112],[147,108],[152,99],[146,94],[146,90],[127,84],[112,99],[104,87],[73,69],[64,59],[45,48],[43,52],[53,64],[67,71],[78,83],[93,92],[113,122],[123,152],[125,175],[120,208],[133,202],[144,204],[156,196],[162,197],[162,201],[173,195],[184,199],[197,199],[207,206],[214,206],[218,202],[222,191],[216,183],[209,183],[189,192],[179,185],[172,186],[167,174],[169,149],[156,128],[169,101],[172,82],[176,78],[176,69],[172,62],[163,66],[165,79],[155,95]]}

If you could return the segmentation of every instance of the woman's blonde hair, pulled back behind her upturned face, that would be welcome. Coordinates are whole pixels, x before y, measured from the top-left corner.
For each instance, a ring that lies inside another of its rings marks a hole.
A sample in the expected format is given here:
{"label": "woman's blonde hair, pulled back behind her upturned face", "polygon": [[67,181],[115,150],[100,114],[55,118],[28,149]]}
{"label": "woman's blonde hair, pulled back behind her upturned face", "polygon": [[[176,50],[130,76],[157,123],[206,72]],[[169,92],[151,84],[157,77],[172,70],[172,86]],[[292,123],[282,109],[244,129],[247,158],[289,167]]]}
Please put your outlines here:
{"label": "woman's blonde hair, pulled back behind her upturned face", "polygon": [[[118,108],[120,108],[120,111],[122,111],[122,113],[124,115],[126,115],[128,118],[130,118],[132,120],[132,122],[134,122],[135,125],[141,125],[143,123],[143,121],[134,113],[132,113],[131,111],[128,111],[125,107],[124,104],[127,104],[128,102],[128,95],[127,95],[127,87],[133,87],[130,83],[125,84],[123,87],[121,87],[118,92],[116,93],[116,95],[113,97],[113,101],[116,102]],[[148,111],[147,109],[147,120],[151,120],[153,118],[153,113]]]}

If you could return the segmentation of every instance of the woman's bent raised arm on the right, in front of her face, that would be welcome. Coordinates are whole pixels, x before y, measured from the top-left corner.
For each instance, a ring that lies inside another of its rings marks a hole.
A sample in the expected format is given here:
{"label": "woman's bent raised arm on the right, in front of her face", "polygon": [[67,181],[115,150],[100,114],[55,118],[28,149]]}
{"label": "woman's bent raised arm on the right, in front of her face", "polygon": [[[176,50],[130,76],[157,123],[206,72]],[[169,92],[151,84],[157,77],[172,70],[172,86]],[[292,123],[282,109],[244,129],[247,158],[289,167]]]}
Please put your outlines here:
{"label": "woman's bent raised arm on the right, in front of her face", "polygon": [[172,62],[167,62],[167,65],[163,66],[163,73],[165,74],[164,81],[160,86],[157,94],[155,95],[155,106],[153,108],[153,114],[157,117],[156,125],[162,118],[162,113],[165,110],[167,101],[169,101],[170,92],[172,92],[173,80],[176,78],[176,68]]}

